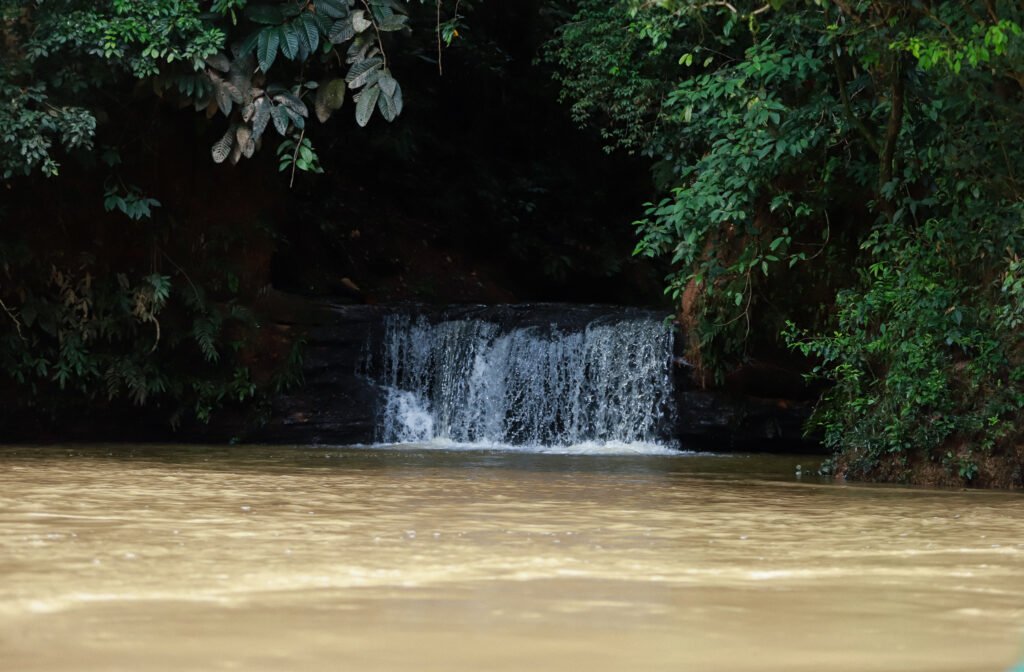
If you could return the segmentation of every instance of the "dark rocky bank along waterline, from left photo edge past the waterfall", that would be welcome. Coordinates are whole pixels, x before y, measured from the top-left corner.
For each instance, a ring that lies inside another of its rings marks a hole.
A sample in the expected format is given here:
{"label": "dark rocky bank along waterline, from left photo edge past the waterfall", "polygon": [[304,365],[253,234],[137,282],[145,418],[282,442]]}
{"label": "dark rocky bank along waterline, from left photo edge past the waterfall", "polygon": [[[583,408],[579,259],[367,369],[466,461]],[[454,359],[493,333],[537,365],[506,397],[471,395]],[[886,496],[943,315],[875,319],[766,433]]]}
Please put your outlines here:
{"label": "dark rocky bank along waterline, from left photo edge past the waterfall", "polygon": [[[384,337],[385,318],[397,312],[441,320],[484,320],[505,330],[536,328],[573,332],[594,322],[653,319],[641,308],[579,304],[343,305],[270,293],[259,306],[263,329],[285,340],[305,340],[304,384],[271,400],[268,408],[227,408],[209,424],[185,423],[171,430],[160,409],[83,409],[54,426],[38,418],[0,417],[6,440],[152,440],[309,445],[370,444],[384,403],[381,388],[366,374],[368,349]],[[756,370],[759,371],[759,370]],[[687,450],[820,450],[803,436],[812,402],[766,396],[777,372],[755,373],[744,389],[700,390],[686,368],[675,365],[675,436]],[[751,372],[743,374],[748,379]],[[790,391],[780,386],[783,393]],[[753,395],[752,394],[756,394]]]}

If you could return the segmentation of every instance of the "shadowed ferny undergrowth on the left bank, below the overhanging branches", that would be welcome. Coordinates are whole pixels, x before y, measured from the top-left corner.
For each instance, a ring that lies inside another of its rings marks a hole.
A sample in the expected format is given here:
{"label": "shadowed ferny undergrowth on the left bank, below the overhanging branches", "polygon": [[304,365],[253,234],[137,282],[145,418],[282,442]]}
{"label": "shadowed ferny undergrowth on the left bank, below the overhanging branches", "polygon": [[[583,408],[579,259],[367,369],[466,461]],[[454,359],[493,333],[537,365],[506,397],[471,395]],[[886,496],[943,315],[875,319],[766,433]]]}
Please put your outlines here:
{"label": "shadowed ferny undergrowth on the left bank, below the overhanging branches", "polygon": [[0,332],[0,366],[22,389],[9,405],[55,413],[71,400],[94,409],[125,400],[163,405],[176,424],[205,421],[224,403],[257,394],[240,356],[251,347],[254,317],[237,299],[220,299],[231,293],[229,271],[218,279],[194,265],[216,291],[211,297],[182,278],[162,247],[155,252],[169,274],[113,271],[91,254],[40,255],[33,247],[25,237],[0,246],[8,327]]}

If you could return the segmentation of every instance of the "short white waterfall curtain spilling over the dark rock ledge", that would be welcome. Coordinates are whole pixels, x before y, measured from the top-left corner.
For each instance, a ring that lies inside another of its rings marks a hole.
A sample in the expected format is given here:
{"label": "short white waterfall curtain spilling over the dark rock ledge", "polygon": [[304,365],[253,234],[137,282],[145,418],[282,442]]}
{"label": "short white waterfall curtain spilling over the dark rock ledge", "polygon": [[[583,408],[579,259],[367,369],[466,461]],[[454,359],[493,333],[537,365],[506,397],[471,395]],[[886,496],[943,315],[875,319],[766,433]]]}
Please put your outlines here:
{"label": "short white waterfall curtain spilling over the dark rock ledge", "polygon": [[672,334],[651,313],[566,329],[390,316],[370,366],[384,444],[671,443]]}

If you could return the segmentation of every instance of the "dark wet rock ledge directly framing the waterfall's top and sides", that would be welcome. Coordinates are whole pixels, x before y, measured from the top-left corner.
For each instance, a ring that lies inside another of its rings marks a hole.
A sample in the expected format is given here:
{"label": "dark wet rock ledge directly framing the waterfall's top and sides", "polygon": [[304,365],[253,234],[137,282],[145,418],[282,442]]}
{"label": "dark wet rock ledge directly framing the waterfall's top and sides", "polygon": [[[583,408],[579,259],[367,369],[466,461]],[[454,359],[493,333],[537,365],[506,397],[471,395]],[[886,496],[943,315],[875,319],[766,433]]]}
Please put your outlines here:
{"label": "dark wet rock ledge directly framing the waterfall's top and sides", "polygon": [[[662,317],[639,308],[595,305],[381,307],[282,302],[271,311],[275,322],[306,334],[305,385],[274,400],[268,421],[261,427],[243,430],[241,436],[275,444],[372,443],[382,394],[361,370],[367,348],[381,340],[384,317],[395,310],[430,321],[486,320],[510,330],[535,327],[573,331],[594,321]],[[685,369],[677,368],[675,374],[676,434],[682,448],[786,452],[819,449],[817,442],[803,433],[810,402],[700,390],[689,382]],[[770,388],[770,380],[761,385],[761,389],[766,387]]]}

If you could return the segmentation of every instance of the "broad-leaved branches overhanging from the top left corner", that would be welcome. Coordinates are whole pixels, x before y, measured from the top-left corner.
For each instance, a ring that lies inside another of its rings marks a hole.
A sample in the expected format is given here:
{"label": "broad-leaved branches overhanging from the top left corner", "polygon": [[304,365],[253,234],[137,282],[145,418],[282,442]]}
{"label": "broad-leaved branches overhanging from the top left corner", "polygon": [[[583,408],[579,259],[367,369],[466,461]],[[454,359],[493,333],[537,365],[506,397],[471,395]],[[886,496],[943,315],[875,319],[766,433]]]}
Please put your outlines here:
{"label": "broad-leaved branches overhanging from the top left corner", "polygon": [[[126,78],[226,118],[211,150],[217,162],[252,157],[268,126],[301,142],[309,108],[326,122],[342,106],[341,81],[361,89],[353,96],[360,126],[375,112],[392,121],[402,95],[384,39],[408,30],[406,9],[397,0],[355,3],[4,0],[0,170],[5,179],[56,175],[54,150],[90,150],[103,93]],[[318,83],[327,97],[313,93]]]}

